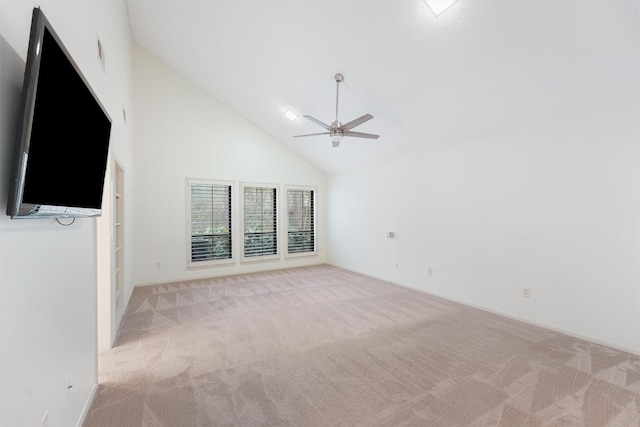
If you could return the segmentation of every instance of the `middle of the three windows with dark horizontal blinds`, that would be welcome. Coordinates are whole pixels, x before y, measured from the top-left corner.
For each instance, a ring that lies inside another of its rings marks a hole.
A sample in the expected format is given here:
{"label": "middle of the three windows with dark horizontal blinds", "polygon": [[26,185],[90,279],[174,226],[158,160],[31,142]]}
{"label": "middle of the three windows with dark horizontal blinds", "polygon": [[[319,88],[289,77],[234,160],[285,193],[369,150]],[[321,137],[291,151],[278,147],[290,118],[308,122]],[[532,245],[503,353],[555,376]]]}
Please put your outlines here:
{"label": "middle of the three windows with dark horizontal blinds", "polygon": [[245,185],[242,200],[245,258],[278,255],[276,188]]}

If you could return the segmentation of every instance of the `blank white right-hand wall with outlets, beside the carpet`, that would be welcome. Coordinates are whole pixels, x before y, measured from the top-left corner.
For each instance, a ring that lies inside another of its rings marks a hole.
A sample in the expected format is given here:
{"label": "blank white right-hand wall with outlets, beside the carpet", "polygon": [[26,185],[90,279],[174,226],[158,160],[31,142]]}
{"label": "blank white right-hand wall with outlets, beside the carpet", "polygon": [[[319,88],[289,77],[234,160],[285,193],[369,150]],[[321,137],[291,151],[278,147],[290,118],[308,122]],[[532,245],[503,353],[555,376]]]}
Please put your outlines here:
{"label": "blank white right-hand wall with outlets, beside the carpet", "polygon": [[329,261],[640,353],[639,118],[635,98],[332,176]]}

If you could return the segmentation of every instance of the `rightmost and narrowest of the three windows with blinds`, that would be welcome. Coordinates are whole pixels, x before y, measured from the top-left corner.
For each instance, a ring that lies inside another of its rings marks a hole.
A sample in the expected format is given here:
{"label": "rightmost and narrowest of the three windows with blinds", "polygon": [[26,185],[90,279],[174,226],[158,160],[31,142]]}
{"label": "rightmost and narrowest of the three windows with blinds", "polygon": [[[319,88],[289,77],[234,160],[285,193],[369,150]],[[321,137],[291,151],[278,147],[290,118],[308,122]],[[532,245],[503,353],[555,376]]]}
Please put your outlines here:
{"label": "rightmost and narrowest of the three windows with blinds", "polygon": [[287,254],[316,252],[315,190],[287,189]]}

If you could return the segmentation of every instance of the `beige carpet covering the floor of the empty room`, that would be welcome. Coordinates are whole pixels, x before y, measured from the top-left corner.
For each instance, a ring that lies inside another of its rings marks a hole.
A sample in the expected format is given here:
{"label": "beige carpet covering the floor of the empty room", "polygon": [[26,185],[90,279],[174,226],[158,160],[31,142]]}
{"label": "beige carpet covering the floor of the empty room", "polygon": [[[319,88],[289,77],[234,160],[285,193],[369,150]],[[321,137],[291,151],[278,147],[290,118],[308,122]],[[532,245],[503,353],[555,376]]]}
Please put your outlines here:
{"label": "beige carpet covering the floor of the empty room", "polygon": [[640,426],[640,357],[331,266],[164,284],[84,426]]}

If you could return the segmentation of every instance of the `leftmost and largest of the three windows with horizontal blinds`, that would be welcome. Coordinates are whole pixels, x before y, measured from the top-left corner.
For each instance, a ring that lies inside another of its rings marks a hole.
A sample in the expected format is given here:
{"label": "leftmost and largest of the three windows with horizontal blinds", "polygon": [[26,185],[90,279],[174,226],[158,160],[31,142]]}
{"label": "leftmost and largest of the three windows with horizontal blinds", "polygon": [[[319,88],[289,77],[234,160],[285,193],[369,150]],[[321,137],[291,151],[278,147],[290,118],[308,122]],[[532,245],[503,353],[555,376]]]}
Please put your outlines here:
{"label": "leftmost and largest of the three windows with horizontal blinds", "polygon": [[189,180],[190,263],[230,260],[231,184]]}

